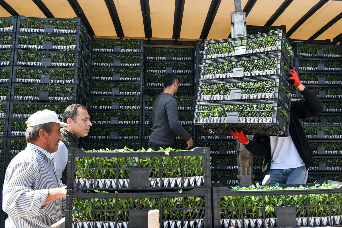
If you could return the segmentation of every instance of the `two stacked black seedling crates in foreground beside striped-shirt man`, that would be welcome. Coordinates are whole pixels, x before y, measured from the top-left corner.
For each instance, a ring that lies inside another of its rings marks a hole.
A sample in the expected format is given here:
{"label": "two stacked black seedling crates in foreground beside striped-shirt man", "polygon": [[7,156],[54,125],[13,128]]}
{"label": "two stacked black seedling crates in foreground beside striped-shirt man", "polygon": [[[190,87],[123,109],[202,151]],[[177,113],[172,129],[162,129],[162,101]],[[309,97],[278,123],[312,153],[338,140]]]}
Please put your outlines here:
{"label": "two stacked black seedling crates in foreground beside striped-shirt man", "polygon": [[70,150],[65,227],[211,228],[209,150]]}

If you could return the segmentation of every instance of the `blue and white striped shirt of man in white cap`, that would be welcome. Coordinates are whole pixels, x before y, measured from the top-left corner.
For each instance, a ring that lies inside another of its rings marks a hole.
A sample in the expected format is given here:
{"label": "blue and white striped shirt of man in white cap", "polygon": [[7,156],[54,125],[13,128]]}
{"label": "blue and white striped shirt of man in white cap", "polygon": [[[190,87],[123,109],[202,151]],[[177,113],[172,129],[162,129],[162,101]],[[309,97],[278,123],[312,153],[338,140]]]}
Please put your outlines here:
{"label": "blue and white striped shirt of man in white cap", "polygon": [[[28,143],[8,165],[2,189],[5,227],[50,228],[65,214],[65,198],[41,206],[50,188],[63,187],[57,179],[53,156]],[[63,214],[62,214],[63,213]]]}

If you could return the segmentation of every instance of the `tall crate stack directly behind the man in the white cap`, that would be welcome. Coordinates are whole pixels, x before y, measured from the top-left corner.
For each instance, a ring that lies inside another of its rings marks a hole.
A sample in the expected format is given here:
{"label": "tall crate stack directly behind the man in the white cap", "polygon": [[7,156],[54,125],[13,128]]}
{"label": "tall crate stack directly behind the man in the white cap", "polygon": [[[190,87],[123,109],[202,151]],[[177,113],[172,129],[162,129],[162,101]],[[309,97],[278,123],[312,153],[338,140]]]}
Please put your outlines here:
{"label": "tall crate stack directly behind the man in the white cap", "polygon": [[7,152],[26,147],[27,118],[50,109],[62,118],[86,105],[91,39],[80,18],[17,17]]}

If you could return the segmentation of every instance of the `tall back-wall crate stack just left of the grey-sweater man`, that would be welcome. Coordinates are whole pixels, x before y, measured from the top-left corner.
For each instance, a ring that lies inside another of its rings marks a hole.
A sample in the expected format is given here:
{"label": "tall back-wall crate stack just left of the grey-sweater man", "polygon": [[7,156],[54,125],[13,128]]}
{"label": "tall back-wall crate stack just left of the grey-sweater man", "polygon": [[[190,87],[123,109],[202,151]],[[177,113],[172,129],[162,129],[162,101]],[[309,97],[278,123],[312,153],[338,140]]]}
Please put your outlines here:
{"label": "tall back-wall crate stack just left of the grey-sweater man", "polygon": [[93,39],[87,149],[141,148],[144,40]]}

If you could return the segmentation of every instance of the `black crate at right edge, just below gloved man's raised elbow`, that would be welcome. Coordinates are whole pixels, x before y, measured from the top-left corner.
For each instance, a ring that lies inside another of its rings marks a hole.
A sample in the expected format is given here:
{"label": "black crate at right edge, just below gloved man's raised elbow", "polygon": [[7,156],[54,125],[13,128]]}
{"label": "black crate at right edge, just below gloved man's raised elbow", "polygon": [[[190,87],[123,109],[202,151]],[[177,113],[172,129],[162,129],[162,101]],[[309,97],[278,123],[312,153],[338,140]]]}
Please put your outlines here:
{"label": "black crate at right edge, just below gloved man's raised elbow", "polygon": [[302,124],[312,124],[317,126],[342,125],[342,113],[318,114],[313,117],[302,119]]}

